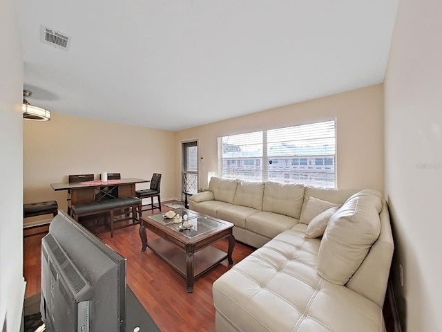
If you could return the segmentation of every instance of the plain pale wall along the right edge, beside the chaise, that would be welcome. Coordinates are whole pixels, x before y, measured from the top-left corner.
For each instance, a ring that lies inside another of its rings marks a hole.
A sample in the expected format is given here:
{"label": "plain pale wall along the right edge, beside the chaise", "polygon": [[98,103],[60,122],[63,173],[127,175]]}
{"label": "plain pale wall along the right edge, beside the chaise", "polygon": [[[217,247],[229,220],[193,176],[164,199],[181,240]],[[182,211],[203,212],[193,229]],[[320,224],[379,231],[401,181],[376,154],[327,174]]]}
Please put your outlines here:
{"label": "plain pale wall along the right edge, beside the chaise", "polygon": [[403,331],[442,331],[441,12],[441,1],[399,2],[385,79],[385,188]]}

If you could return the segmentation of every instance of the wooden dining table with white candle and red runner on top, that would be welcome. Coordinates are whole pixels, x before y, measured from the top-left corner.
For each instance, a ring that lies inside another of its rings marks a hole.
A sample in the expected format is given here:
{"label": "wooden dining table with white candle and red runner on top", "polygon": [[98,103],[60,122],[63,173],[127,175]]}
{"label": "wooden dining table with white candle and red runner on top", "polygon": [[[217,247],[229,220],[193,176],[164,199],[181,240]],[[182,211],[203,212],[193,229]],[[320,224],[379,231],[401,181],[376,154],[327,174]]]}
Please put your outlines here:
{"label": "wooden dining table with white candle and red runner on top", "polygon": [[[135,196],[135,185],[137,183],[148,183],[150,180],[142,178],[122,178],[108,181],[85,181],[78,183],[51,183],[50,186],[56,192],[59,190],[69,190],[70,205],[90,203],[97,200],[97,193],[102,192],[101,198],[121,198]],[[104,190],[104,188],[107,188]],[[109,193],[113,194],[109,194]],[[114,193],[117,192],[116,196]]]}

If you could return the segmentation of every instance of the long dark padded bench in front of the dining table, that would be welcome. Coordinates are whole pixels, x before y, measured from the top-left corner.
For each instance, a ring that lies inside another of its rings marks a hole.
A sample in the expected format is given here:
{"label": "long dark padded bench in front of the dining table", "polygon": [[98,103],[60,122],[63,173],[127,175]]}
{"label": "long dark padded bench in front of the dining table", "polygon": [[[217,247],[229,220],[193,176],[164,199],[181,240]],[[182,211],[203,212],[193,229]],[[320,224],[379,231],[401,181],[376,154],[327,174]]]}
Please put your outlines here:
{"label": "long dark padded bench in front of the dining table", "polygon": [[[93,214],[108,213],[109,222],[111,223],[111,237],[114,231],[114,212],[131,208],[133,223],[124,225],[123,227],[136,225],[141,219],[141,199],[137,197],[121,197],[118,199],[104,199],[91,203],[75,204],[71,206],[73,218],[78,221],[81,216],[91,216]],[[136,216],[138,214],[138,218]]]}

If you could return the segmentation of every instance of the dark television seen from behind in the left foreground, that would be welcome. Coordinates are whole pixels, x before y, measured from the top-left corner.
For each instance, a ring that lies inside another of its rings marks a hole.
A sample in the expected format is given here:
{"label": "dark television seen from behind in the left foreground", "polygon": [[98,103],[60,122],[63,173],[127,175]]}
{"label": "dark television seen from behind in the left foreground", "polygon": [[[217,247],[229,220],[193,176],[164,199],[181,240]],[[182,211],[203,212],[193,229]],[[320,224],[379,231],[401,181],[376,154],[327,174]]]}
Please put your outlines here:
{"label": "dark television seen from behind in the left foreground", "polygon": [[46,331],[126,331],[126,258],[64,212],[41,243]]}

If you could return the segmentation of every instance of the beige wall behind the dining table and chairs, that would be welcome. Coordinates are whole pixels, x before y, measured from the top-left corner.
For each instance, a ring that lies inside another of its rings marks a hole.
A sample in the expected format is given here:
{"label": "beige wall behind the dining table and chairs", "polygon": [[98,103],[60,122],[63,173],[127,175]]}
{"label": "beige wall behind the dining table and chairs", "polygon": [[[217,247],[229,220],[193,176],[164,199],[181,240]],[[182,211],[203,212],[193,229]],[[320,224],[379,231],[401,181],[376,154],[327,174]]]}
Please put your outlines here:
{"label": "beige wall behind the dining table and chairs", "polygon": [[[50,183],[67,182],[68,174],[95,174],[98,179],[102,172],[146,179],[161,173],[162,200],[173,198],[173,137],[172,131],[60,113],[52,113],[48,122],[24,121],[24,202],[55,199],[66,211],[67,193],[55,192]],[[145,187],[148,184],[137,185]]]}

